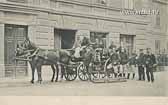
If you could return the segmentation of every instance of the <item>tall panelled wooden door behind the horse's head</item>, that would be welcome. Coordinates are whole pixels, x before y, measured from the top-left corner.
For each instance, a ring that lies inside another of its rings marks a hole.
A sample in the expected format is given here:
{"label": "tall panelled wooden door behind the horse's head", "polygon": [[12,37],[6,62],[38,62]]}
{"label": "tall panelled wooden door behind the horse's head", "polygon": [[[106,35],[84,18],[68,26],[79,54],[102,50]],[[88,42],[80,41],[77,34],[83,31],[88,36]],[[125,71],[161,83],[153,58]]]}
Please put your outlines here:
{"label": "tall panelled wooden door behind the horse's head", "polygon": [[27,62],[14,60],[17,43],[25,40],[27,27],[19,25],[5,25],[5,76],[26,76]]}

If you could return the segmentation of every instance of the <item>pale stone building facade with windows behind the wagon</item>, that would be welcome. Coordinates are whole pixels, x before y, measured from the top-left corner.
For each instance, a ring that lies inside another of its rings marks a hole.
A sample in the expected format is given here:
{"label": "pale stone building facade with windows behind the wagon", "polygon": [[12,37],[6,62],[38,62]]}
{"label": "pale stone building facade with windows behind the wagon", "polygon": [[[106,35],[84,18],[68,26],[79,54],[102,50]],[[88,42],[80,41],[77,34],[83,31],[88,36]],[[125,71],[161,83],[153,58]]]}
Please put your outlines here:
{"label": "pale stone building facade with windows behind the wagon", "polygon": [[[12,59],[26,36],[44,49],[71,48],[77,36],[86,36],[129,53],[168,50],[167,6],[167,0],[0,0],[0,77],[28,74],[27,63]],[[159,14],[125,13],[142,9]]]}

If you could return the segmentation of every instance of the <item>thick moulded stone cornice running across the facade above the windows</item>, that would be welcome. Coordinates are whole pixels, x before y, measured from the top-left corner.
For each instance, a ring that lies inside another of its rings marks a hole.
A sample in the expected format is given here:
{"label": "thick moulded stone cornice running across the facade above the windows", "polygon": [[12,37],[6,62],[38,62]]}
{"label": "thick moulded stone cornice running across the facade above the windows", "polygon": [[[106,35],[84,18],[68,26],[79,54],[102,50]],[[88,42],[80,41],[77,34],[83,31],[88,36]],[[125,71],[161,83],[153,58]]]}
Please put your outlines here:
{"label": "thick moulded stone cornice running across the facade above the windows", "polygon": [[33,6],[28,4],[26,5],[26,4],[20,4],[20,3],[19,4],[18,3],[0,3],[0,10],[6,11],[6,12],[18,12],[18,13],[32,14],[32,15],[37,15],[39,14],[39,12],[47,12],[49,14],[85,17],[85,18],[91,18],[91,19],[100,19],[100,20],[133,23],[133,24],[141,24],[141,25],[147,25],[149,23],[147,20],[125,19],[121,17],[114,18],[112,16],[100,16],[95,14],[65,11],[62,9],[42,8],[39,6]]}

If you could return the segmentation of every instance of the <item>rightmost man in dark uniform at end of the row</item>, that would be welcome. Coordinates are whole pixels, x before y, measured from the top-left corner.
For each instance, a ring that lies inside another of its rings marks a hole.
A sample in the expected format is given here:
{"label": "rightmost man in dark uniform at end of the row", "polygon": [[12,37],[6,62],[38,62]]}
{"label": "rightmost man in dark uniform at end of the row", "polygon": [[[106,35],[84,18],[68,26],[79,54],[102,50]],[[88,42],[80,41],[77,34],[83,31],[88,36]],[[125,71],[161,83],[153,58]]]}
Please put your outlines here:
{"label": "rightmost man in dark uniform at end of the row", "polygon": [[145,55],[145,66],[146,66],[146,75],[148,82],[154,82],[153,70],[156,66],[155,55],[151,53],[151,49],[147,48],[147,54]]}

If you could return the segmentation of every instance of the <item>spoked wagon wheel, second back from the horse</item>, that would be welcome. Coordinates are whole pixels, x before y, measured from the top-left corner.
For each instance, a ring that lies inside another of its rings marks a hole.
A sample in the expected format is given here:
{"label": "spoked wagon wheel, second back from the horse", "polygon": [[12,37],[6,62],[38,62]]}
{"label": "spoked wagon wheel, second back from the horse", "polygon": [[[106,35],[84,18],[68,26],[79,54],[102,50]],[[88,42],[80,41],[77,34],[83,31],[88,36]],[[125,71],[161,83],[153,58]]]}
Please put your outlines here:
{"label": "spoked wagon wheel, second back from the horse", "polygon": [[80,80],[87,81],[89,79],[87,68],[83,63],[78,66],[77,71]]}

